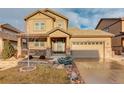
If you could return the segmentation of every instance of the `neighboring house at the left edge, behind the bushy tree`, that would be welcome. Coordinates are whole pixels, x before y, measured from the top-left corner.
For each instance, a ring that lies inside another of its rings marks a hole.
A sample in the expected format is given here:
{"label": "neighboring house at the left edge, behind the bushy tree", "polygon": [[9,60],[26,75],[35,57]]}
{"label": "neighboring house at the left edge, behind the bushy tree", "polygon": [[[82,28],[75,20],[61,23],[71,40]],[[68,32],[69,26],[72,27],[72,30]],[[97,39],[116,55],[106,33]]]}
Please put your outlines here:
{"label": "neighboring house at the left edge, behind the bushy tree", "polygon": [[0,24],[0,54],[2,52],[4,41],[9,40],[14,48],[17,48],[17,34],[20,31],[10,24]]}

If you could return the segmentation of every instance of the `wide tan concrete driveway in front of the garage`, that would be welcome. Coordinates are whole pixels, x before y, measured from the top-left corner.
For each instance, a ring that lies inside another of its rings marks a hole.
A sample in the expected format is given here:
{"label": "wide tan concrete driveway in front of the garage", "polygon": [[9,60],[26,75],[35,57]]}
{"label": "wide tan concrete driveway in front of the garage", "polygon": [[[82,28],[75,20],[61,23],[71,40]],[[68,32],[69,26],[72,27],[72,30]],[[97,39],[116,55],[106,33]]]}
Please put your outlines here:
{"label": "wide tan concrete driveway in front of the garage", "polygon": [[124,84],[124,66],[115,61],[76,59],[75,63],[86,84]]}

